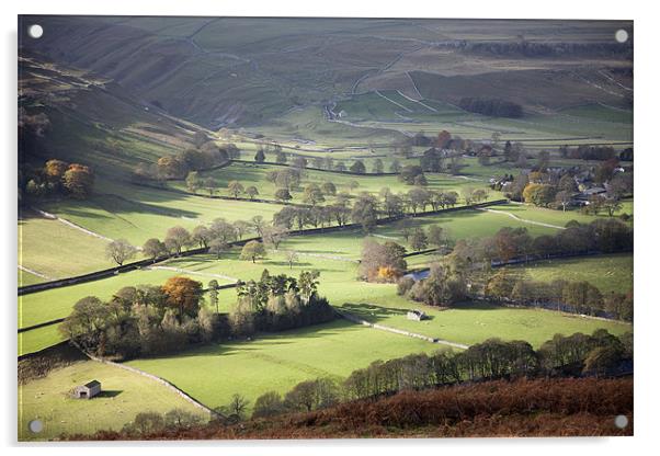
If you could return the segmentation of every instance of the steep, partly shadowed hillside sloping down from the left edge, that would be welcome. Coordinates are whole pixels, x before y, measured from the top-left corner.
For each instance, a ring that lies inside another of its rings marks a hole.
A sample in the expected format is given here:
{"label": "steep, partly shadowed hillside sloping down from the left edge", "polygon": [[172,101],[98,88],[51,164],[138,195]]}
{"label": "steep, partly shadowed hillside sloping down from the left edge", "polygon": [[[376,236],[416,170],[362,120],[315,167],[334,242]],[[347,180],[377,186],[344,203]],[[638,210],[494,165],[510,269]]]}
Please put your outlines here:
{"label": "steep, partly shadowed hillside sloping down from the left edge", "polygon": [[45,114],[48,122],[42,135],[21,138],[22,164],[58,158],[92,166],[100,175],[126,176],[139,162],[192,147],[200,130],[109,79],[25,49],[19,57],[19,88],[23,116]]}

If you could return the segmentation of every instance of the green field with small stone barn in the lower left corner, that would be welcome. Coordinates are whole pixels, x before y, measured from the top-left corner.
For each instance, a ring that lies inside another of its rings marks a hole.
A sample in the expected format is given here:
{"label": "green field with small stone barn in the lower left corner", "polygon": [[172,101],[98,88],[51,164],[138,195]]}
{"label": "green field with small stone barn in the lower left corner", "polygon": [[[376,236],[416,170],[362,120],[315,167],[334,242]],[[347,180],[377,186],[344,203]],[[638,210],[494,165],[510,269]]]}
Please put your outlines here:
{"label": "green field with small stone barn in the lower left corner", "polygon": [[[101,381],[100,396],[90,400],[69,397],[71,389],[92,379]],[[150,378],[95,361],[78,362],[19,386],[19,438],[49,440],[62,433],[118,431],[139,412],[166,413],[172,409],[208,418],[207,413]],[[42,433],[30,432],[27,424],[32,420],[43,422]]]}

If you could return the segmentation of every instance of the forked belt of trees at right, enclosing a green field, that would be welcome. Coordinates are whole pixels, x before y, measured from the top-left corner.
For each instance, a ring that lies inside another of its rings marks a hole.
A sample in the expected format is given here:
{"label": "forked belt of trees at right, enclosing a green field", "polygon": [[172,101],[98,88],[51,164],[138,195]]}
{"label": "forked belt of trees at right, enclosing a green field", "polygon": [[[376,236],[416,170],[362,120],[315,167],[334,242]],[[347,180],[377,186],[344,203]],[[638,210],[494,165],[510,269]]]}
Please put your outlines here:
{"label": "forked belt of trees at right, enclosing a green field", "polygon": [[[429,242],[441,251],[448,248],[441,227],[430,227],[429,233],[407,227],[410,242]],[[426,242],[418,248],[426,247]],[[396,267],[394,260],[405,249],[391,241],[380,246],[365,242],[361,276],[375,282],[396,282],[400,296],[430,306],[448,307],[467,298],[488,298],[500,303],[558,308],[576,314],[590,314],[633,319],[633,294],[601,292],[585,282],[534,282],[513,274],[508,269],[493,266],[512,262],[547,259],[562,254],[613,253],[631,251],[633,229],[618,219],[600,219],[590,224],[570,221],[567,229],[556,235],[530,236],[526,228],[501,228],[494,236],[456,241],[451,253],[437,258],[430,265],[428,277],[416,281],[405,276],[405,269]],[[396,256],[392,252],[397,252]],[[402,258],[401,258],[402,260]]]}

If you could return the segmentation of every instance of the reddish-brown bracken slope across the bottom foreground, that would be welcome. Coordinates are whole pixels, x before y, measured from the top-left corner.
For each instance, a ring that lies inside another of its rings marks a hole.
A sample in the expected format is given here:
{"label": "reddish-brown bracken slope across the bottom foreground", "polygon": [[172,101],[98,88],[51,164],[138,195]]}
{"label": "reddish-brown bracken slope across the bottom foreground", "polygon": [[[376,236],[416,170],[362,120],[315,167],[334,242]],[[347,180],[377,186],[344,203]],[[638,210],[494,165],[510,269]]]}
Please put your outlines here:
{"label": "reddish-brown bracken slope across the bottom foreground", "polygon": [[[577,398],[580,398],[579,400]],[[498,410],[492,414],[492,410]],[[633,411],[633,378],[488,381],[405,391],[375,401],[238,425],[169,430],[139,438],[365,438],[633,435],[614,417]],[[127,438],[100,432],[93,438]],[[76,438],[76,437],[73,437]]]}

